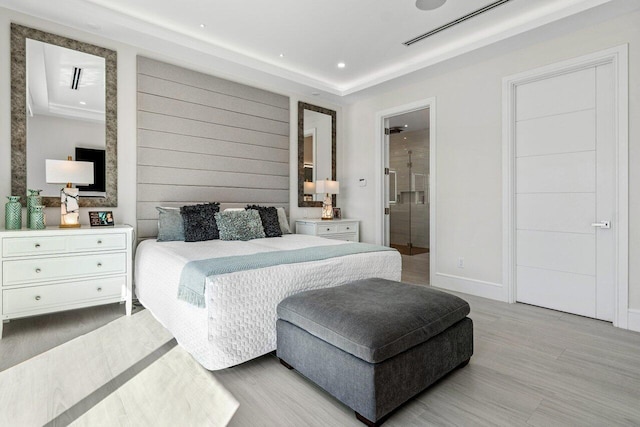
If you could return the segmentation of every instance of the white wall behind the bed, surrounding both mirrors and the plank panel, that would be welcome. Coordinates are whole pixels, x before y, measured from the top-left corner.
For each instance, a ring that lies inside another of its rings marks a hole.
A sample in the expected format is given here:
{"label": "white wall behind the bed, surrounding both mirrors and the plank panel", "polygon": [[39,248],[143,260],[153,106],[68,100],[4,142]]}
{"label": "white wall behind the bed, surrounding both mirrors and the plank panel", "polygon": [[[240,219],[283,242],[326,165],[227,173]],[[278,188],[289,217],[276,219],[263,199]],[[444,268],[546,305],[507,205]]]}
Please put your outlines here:
{"label": "white wall behind the bed, surrounding both mirrors and the plank panel", "polygon": [[[11,193],[11,80],[10,80],[10,23],[34,27],[43,31],[70,37],[83,42],[113,49],[118,53],[118,206],[111,207],[116,222],[135,224],[136,219],[136,56],[144,55],[149,58],[175,63],[196,71],[217,75],[222,78],[236,80],[240,83],[260,87],[290,97],[290,194],[292,223],[296,218],[320,217],[321,208],[298,208],[298,101],[307,102],[321,107],[336,110],[338,122],[338,147],[341,144],[342,109],[341,106],[328,102],[321,102],[311,96],[283,91],[273,85],[262,84],[260,81],[234,78],[228,72],[227,63],[196,50],[185,49],[179,45],[172,45],[166,41],[154,40],[151,36],[140,43],[152,48],[136,47],[78,31],[39,18],[0,8],[0,196]],[[132,43],[137,43],[132,40]],[[220,68],[218,68],[220,65]],[[265,79],[267,80],[267,79]],[[338,165],[340,155],[338,155]],[[340,169],[338,170],[338,179]],[[6,200],[6,199],[4,199]],[[340,199],[338,199],[340,200]],[[3,204],[3,203],[2,203]],[[2,205],[0,204],[0,205]],[[23,203],[24,205],[24,203]],[[82,208],[80,219],[88,224],[88,209]],[[60,210],[47,208],[47,223],[59,222]],[[0,227],[4,227],[4,214],[0,214]]]}

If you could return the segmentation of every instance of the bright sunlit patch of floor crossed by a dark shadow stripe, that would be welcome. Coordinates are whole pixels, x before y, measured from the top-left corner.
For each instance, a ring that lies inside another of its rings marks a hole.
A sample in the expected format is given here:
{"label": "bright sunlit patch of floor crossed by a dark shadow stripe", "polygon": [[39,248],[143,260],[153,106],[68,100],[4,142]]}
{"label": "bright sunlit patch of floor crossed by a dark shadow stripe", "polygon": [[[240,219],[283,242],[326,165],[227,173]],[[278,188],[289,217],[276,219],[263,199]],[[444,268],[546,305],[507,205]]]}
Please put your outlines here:
{"label": "bright sunlit patch of floor crossed by a dark shadow stripe", "polygon": [[147,310],[0,372],[0,425],[224,426],[237,408]]}

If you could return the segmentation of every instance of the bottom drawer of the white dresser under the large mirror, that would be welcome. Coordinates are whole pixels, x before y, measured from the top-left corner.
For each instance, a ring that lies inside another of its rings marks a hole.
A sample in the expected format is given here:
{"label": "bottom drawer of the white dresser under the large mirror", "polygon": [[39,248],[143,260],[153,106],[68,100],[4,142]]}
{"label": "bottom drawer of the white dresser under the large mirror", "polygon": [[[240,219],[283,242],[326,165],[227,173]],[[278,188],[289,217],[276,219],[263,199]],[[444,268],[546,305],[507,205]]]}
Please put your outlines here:
{"label": "bottom drawer of the white dresser under the large mirror", "polygon": [[123,295],[125,285],[124,277],[113,277],[6,289],[2,291],[2,314],[48,312],[55,311],[55,307],[73,306],[90,300],[117,300]]}

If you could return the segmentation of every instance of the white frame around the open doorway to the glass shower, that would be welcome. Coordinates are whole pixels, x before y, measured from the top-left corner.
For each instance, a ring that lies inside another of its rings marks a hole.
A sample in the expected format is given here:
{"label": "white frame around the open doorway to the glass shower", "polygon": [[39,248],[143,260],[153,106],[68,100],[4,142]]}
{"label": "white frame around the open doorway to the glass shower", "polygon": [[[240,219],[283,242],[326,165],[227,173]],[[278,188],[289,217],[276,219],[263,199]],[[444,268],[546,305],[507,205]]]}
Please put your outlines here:
{"label": "white frame around the open doorway to the glass shower", "polygon": [[384,183],[385,163],[389,154],[385,153],[384,122],[386,119],[411,113],[417,110],[429,109],[429,283],[433,283],[436,260],[436,98],[426,98],[408,104],[398,105],[386,110],[378,111],[375,119],[375,224],[376,243],[384,244],[385,236],[389,233],[389,226],[385,221]]}

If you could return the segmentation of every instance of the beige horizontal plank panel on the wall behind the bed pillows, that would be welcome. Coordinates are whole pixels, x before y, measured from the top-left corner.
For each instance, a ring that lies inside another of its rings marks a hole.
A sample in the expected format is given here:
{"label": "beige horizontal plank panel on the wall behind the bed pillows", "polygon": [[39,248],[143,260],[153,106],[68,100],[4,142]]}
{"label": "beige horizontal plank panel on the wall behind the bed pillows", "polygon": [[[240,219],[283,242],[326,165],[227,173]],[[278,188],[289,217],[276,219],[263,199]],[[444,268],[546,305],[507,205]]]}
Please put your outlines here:
{"label": "beige horizontal plank panel on the wall behind the bed pillows", "polygon": [[138,237],[156,206],[289,207],[289,98],[138,57]]}

